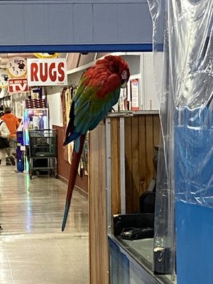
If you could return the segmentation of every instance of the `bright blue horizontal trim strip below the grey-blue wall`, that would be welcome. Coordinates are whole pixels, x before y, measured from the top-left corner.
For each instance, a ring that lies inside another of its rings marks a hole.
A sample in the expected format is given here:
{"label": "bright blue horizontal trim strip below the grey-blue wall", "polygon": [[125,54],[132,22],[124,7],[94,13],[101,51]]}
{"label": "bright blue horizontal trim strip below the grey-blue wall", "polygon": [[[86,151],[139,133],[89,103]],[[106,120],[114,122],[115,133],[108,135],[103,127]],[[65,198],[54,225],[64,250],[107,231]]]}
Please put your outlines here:
{"label": "bright blue horizontal trim strip below the grey-blue wall", "polygon": [[0,53],[151,52],[151,43],[78,45],[0,45]]}

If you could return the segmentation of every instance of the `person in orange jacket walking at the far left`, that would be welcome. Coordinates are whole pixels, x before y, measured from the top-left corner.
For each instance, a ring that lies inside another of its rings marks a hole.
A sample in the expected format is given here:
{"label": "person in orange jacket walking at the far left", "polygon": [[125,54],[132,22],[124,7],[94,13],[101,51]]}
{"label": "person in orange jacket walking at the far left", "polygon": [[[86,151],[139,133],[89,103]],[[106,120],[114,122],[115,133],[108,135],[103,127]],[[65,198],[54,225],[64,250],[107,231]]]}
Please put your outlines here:
{"label": "person in orange jacket walking at the far left", "polygon": [[8,157],[6,157],[6,165],[16,165],[12,153],[16,153],[16,130],[18,129],[19,121],[14,114],[11,114],[11,109],[9,107],[4,109],[4,116],[1,116],[1,119],[6,123],[6,126],[11,133],[8,139],[10,148],[6,149],[8,155]]}

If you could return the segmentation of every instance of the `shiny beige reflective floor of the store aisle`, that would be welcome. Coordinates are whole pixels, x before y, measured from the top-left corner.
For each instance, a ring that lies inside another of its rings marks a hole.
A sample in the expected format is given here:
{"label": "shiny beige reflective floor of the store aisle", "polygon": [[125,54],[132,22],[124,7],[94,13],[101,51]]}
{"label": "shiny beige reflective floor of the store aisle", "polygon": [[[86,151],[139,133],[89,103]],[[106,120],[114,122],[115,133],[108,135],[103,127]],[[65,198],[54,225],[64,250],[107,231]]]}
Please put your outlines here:
{"label": "shiny beige reflective floor of the store aisle", "polygon": [[67,185],[0,169],[0,284],[87,284],[87,200],[74,192],[61,232]]}

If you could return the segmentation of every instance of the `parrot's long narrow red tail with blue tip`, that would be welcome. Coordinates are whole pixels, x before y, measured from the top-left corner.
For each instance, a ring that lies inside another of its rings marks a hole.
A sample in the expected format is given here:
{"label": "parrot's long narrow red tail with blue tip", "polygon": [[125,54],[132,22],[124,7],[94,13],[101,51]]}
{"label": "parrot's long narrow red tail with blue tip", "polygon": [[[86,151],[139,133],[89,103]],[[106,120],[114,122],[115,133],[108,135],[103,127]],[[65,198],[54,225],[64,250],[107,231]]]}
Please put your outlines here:
{"label": "parrot's long narrow red tail with blue tip", "polygon": [[65,226],[66,226],[66,222],[67,222],[67,216],[68,216],[68,212],[69,212],[69,209],[70,209],[70,202],[71,202],[71,198],[72,198],[72,192],[73,192],[73,188],[75,187],[75,180],[76,180],[76,176],[77,176],[77,169],[78,169],[78,165],[80,163],[82,150],[84,148],[85,136],[86,135],[82,135],[80,137],[80,148],[79,148],[79,151],[76,152],[75,148],[72,151],[70,178],[69,178],[68,187],[67,187],[67,199],[66,199],[66,204],[65,204],[64,218],[63,218],[63,222],[62,222],[62,231],[64,231]]}

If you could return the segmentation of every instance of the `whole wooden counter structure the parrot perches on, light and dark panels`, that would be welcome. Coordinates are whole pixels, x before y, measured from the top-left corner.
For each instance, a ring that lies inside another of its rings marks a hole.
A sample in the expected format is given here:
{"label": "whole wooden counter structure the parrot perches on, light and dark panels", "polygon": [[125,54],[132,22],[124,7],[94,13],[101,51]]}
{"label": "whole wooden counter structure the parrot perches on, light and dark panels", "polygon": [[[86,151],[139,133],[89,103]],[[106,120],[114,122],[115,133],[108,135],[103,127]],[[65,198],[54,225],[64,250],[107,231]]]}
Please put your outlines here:
{"label": "whole wooden counter structure the parrot perches on, light and dark panels", "polygon": [[138,211],[139,197],[155,175],[152,159],[159,129],[158,111],[140,111],[109,114],[89,133],[90,284],[109,284],[107,214],[120,214],[122,206],[126,213]]}

